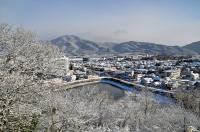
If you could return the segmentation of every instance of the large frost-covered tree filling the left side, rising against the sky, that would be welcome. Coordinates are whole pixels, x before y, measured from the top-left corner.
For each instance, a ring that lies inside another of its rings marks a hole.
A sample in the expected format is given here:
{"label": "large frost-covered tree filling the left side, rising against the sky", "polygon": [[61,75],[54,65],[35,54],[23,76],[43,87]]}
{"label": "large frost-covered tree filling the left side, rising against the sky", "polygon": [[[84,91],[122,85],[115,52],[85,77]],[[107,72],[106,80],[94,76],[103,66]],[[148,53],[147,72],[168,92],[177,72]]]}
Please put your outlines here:
{"label": "large frost-covered tree filling the left side, rising against the sky", "polygon": [[44,79],[54,74],[50,60],[61,56],[34,33],[0,25],[0,131],[24,131],[36,125],[40,114],[36,104],[49,90]]}

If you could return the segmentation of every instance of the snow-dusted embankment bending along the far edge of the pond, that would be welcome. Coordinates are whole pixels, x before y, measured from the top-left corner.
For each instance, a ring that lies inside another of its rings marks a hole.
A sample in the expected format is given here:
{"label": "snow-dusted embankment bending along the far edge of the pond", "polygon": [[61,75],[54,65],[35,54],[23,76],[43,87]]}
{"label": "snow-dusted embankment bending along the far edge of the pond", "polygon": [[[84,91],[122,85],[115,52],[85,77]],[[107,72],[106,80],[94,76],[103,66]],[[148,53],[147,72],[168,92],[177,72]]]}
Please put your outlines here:
{"label": "snow-dusted embankment bending along the far edge of the pond", "polygon": [[146,90],[151,91],[156,94],[164,94],[164,95],[167,95],[170,97],[173,97],[173,95],[174,95],[173,91],[144,86],[141,84],[136,84],[133,82],[128,82],[128,81],[118,79],[118,78],[113,78],[113,77],[95,77],[95,78],[91,78],[91,79],[76,80],[76,81],[72,81],[72,82],[63,81],[61,83],[61,88],[55,89],[55,91],[68,90],[68,89],[77,88],[77,87],[88,85],[88,84],[99,83],[99,82],[113,85],[115,87],[118,87],[118,88],[128,91],[128,92],[132,92],[133,90],[141,91],[143,89],[146,89]]}

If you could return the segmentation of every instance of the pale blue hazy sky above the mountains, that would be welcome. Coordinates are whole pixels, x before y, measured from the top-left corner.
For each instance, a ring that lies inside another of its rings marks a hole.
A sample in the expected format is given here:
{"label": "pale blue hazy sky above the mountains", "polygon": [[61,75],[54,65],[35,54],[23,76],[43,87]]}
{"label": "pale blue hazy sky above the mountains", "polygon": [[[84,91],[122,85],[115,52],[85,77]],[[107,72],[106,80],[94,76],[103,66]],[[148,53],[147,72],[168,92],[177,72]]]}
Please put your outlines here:
{"label": "pale blue hazy sky above the mountains", "polygon": [[200,0],[0,0],[0,23],[41,39],[184,45],[200,40]]}

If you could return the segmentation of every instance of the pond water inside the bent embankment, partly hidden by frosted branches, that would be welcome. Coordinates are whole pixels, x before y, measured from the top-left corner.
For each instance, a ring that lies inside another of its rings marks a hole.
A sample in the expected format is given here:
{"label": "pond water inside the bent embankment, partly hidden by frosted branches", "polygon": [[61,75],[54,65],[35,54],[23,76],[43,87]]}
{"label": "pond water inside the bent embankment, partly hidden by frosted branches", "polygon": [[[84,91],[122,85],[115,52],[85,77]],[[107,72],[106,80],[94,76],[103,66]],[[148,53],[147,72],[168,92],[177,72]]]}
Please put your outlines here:
{"label": "pond water inside the bent embankment, partly hidden by frosted branches", "polygon": [[[122,85],[124,86],[124,85]],[[91,92],[96,91],[99,93],[106,93],[108,96],[110,96],[111,98],[115,99],[115,100],[119,100],[121,98],[124,98],[126,96],[131,95],[131,92],[127,92],[125,90],[120,89],[120,84],[118,85],[118,87],[110,85],[110,84],[106,84],[106,83],[95,83],[95,84],[89,84],[89,85],[84,85],[84,86],[80,86],[77,87],[78,89],[87,89],[85,91],[84,94],[86,94],[87,92]],[[133,93],[135,93],[137,96],[142,96],[140,91],[136,91],[133,90]],[[153,99],[154,101],[161,103],[161,104],[175,104],[174,99],[164,96],[164,95],[159,95],[159,94],[154,94],[153,95]]]}

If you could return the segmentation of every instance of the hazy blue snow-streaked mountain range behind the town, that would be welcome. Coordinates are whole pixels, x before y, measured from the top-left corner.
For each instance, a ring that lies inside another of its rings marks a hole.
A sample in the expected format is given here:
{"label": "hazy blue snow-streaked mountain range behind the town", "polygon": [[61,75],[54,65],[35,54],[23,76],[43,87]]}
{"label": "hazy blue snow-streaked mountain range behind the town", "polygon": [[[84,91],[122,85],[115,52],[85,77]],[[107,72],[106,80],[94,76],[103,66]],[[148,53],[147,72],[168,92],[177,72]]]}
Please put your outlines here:
{"label": "hazy blue snow-streaked mountain range behind the town", "polygon": [[66,55],[107,55],[149,53],[160,55],[196,55],[200,54],[200,41],[186,46],[167,46],[148,42],[94,42],[74,35],[65,35],[51,40]]}

